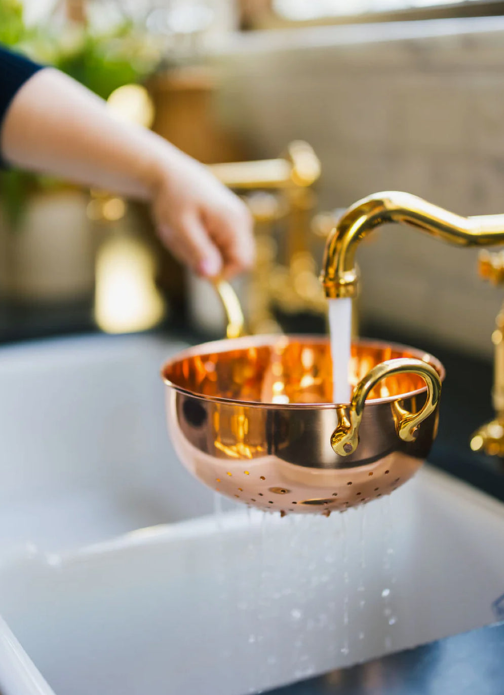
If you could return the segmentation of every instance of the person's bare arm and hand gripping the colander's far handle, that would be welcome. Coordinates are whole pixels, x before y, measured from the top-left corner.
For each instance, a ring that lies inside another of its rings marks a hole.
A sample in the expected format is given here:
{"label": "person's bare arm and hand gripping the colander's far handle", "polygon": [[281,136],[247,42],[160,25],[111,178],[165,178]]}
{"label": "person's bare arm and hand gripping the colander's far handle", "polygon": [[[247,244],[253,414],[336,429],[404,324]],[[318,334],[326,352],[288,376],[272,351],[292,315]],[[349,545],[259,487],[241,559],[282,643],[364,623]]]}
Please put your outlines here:
{"label": "person's bare arm and hand gripping the colander's far handle", "polygon": [[251,266],[249,211],[205,167],[155,133],[116,120],[102,99],[57,70],[21,64],[27,79],[15,70],[0,90],[6,162],[149,202],[165,245],[201,275]]}

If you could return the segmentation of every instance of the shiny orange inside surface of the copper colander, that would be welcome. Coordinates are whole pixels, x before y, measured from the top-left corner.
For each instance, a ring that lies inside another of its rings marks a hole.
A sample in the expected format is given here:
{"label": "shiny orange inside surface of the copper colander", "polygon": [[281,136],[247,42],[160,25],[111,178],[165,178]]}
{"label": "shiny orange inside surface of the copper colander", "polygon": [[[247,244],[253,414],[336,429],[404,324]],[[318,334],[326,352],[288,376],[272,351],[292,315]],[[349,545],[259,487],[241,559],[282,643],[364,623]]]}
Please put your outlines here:
{"label": "shiny orange inside surface of the copper colander", "polygon": [[[432,355],[403,345],[358,341],[352,345],[350,380],[355,386],[377,364],[400,357],[426,361],[444,377]],[[328,338],[254,336],[191,348],[162,370],[179,391],[209,400],[242,403],[333,404],[333,369]],[[403,373],[383,379],[368,400],[405,397],[425,391],[423,379]]]}

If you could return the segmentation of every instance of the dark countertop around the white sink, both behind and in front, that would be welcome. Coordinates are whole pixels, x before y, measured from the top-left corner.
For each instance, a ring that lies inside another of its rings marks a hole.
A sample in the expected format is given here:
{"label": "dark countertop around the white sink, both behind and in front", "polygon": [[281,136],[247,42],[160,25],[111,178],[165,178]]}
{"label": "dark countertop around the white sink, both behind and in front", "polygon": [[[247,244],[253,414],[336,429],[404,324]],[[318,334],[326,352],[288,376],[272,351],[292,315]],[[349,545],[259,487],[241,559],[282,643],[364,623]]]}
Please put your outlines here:
{"label": "dark countertop around the white sink, both behind and in front", "polygon": [[[318,332],[320,327],[296,320],[295,329]],[[90,302],[46,307],[0,304],[0,344],[92,332],[96,327]],[[188,329],[183,316],[156,333],[189,343],[219,337]],[[444,363],[439,433],[428,460],[504,501],[504,462],[469,448],[471,434],[493,416],[492,363],[383,326],[366,326],[362,335],[415,345]],[[504,695],[504,623],[276,689],[271,695]]]}

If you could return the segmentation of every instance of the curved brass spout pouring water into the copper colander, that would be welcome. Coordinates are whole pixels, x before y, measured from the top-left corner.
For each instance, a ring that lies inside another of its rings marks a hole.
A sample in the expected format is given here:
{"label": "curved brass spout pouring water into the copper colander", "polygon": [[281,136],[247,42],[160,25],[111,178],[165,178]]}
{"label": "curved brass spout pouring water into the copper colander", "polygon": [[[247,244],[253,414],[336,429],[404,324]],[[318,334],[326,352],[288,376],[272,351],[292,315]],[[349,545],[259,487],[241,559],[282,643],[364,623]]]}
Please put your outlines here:
{"label": "curved brass spout pouring water into the copper colander", "polygon": [[504,244],[504,215],[464,218],[410,193],[375,193],[348,208],[328,237],[321,273],[326,297],[358,294],[358,243],[375,227],[390,222],[409,224],[459,246]]}

